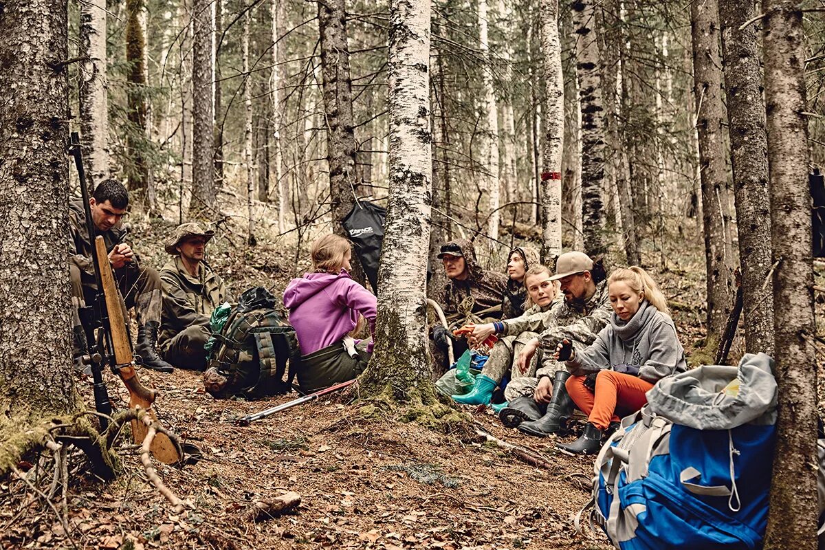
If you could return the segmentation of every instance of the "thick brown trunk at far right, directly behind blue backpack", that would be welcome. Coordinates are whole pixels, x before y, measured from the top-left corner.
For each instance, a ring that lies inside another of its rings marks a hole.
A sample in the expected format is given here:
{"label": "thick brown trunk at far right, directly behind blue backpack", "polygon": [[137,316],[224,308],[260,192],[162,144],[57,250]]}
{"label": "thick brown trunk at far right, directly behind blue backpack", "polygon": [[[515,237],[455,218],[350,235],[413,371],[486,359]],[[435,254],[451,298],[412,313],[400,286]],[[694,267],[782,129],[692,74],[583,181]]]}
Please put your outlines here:
{"label": "thick brown trunk at far right, directly behind blue backpack", "polygon": [[[802,9],[764,0],[762,43],[779,420],[766,550],[817,548],[817,364]],[[812,467],[813,465],[813,467]]]}

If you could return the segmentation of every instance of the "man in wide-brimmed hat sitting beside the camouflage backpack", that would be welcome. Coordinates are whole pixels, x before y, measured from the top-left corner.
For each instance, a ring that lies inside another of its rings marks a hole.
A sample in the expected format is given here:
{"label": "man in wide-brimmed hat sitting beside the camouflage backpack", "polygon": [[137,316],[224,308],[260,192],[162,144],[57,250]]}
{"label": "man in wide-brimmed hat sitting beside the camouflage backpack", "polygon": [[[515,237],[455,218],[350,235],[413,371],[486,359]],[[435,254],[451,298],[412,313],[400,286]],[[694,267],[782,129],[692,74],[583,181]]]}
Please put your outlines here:
{"label": "man in wide-brimmed hat sitting beside the camouflage backpack", "polygon": [[160,270],[163,282],[163,359],[181,369],[206,369],[204,345],[210,339],[210,316],[229,300],[224,281],[204,260],[214,231],[198,223],[181,223],[164,249],[172,259]]}

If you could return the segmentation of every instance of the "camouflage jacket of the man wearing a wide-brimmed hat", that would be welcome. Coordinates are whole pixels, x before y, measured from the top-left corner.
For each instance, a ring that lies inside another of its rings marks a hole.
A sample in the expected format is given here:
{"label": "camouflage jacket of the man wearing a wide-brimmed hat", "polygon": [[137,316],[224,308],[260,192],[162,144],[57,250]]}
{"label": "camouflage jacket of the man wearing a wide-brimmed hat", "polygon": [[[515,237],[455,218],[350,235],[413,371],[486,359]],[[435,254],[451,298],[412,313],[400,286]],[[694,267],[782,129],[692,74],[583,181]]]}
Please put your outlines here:
{"label": "camouflage jacket of the man wearing a wide-brimmed hat", "polygon": [[231,301],[224,281],[205,262],[193,277],[181,256],[167,261],[160,270],[163,283],[163,313],[158,341],[163,343],[193,325],[209,326],[210,316],[221,303]]}

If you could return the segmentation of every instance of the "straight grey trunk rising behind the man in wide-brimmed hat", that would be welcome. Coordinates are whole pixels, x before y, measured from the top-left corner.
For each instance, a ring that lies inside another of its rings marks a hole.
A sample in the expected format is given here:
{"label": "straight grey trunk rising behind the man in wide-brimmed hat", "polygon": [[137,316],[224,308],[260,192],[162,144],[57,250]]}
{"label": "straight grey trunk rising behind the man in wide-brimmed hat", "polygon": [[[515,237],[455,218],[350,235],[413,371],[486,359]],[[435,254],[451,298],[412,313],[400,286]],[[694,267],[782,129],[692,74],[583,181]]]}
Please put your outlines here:
{"label": "straight grey trunk rising behind the man in wide-brimmed hat", "polygon": [[[191,218],[214,210],[214,96],[212,2],[192,2],[192,198]],[[248,78],[246,78],[248,81]]]}

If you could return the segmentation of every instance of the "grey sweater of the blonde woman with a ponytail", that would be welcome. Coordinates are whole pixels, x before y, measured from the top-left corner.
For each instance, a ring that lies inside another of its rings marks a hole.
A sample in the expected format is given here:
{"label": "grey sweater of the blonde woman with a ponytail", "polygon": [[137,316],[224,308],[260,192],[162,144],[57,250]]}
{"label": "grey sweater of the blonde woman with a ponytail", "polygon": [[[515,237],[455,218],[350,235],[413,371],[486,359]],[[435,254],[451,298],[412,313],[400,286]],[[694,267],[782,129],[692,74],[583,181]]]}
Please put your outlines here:
{"label": "grey sweater of the blonde woman with a ponytail", "polygon": [[672,319],[644,300],[627,322],[613,313],[596,341],[576,347],[567,367],[576,376],[612,369],[656,383],[686,370],[687,364]]}

